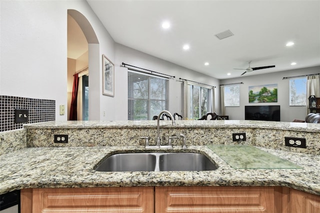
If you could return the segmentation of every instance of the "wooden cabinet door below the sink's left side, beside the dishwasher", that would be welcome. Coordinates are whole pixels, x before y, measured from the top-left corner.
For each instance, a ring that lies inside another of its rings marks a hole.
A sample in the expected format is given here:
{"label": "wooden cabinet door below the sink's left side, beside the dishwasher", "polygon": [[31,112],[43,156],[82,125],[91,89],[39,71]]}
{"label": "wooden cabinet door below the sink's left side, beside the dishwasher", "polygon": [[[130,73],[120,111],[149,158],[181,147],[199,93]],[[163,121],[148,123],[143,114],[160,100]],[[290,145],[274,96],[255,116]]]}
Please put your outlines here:
{"label": "wooden cabinet door below the sink's left side, beside the dishwasher", "polygon": [[33,188],[32,212],[149,213],[153,187]]}

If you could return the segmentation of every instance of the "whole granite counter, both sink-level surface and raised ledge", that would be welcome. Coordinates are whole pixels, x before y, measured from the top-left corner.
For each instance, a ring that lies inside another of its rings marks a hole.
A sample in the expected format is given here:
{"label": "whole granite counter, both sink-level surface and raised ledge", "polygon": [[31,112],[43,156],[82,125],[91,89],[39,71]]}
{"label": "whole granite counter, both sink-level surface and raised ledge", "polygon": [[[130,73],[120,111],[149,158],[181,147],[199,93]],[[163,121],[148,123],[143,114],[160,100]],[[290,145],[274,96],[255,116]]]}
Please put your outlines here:
{"label": "whole granite counter, both sink-level surface and raised ledge", "polygon": [[[297,126],[294,123],[282,123],[283,125],[280,125],[281,122],[276,122],[277,126],[271,127],[271,125],[263,125],[262,122],[248,121],[238,123],[235,121],[233,123],[181,121],[172,127],[169,122],[163,122],[161,135],[172,136],[181,132],[187,136],[186,149],[182,149],[180,141],[176,140],[169,151],[203,153],[214,160],[218,168],[211,171],[134,172],[100,172],[93,168],[102,158],[113,153],[145,151],[142,145],[144,141],[139,136],[147,136],[146,134],[153,136],[156,129],[155,122],[147,121],[139,124],[129,121],[96,121],[91,124],[90,122],[30,124],[25,126],[28,147],[0,155],[0,193],[23,188],[275,186],[320,195],[319,144],[313,142],[319,138],[317,135],[320,130],[315,125]],[[275,133],[270,134],[271,131]],[[86,132],[86,134],[79,135],[80,132]],[[303,168],[234,169],[214,150],[203,145],[205,143],[234,144],[230,136],[231,132],[247,133],[247,140],[237,142],[239,145],[254,145]],[[261,134],[256,135],[256,132]],[[54,143],[52,134],[57,133],[68,134],[69,142]],[[284,135],[307,138],[307,148],[302,150],[286,147],[283,144],[284,141],[274,142],[274,144],[268,139],[264,140],[266,142],[262,146],[261,144],[264,143],[256,141],[257,138],[266,138],[266,136],[271,139],[278,137],[276,141],[282,141]],[[89,141],[87,137],[91,137],[91,140]],[[76,145],[77,141],[81,142]],[[132,143],[137,144],[132,145]]]}

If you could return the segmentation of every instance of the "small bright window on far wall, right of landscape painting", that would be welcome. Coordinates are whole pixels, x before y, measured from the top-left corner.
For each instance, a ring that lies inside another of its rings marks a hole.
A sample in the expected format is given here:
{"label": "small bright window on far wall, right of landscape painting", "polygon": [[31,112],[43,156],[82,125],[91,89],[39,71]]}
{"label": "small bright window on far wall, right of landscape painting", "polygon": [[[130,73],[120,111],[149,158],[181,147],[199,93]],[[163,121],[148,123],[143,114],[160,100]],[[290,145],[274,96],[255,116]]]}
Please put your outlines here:
{"label": "small bright window on far wall, right of landscape painting", "polygon": [[289,80],[289,105],[306,105],[306,77],[293,78]]}

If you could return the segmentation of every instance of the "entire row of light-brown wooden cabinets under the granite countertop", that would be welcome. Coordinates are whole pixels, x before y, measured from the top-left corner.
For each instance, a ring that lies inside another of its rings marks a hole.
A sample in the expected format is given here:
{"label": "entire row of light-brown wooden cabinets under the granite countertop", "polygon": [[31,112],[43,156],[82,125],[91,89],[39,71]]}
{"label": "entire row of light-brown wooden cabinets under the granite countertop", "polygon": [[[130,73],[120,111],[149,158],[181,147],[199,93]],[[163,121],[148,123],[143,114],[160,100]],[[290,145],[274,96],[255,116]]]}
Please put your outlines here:
{"label": "entire row of light-brown wooden cabinets under the granite countertop", "polygon": [[281,186],[21,189],[21,212],[320,213],[320,196]]}

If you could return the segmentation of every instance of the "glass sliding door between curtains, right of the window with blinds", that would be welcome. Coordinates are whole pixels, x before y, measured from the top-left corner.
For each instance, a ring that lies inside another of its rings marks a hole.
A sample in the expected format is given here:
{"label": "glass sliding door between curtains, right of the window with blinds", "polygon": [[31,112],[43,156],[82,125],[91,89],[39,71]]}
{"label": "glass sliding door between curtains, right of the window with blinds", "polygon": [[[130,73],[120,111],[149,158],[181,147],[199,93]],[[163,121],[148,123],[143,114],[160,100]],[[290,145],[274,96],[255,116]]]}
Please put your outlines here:
{"label": "glass sliding door between curtains, right of the window with blinds", "polygon": [[188,85],[188,115],[192,119],[198,119],[211,111],[212,89],[197,85]]}

